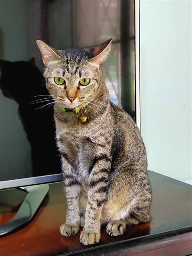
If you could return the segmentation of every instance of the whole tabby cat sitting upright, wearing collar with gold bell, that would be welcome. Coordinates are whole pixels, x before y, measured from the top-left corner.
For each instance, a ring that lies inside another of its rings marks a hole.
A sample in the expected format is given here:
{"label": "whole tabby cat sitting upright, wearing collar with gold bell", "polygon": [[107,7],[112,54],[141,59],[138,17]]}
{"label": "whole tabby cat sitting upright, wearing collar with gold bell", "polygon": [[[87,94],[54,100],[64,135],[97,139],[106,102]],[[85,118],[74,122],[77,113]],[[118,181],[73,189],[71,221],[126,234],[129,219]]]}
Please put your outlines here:
{"label": "whole tabby cat sitting upright, wearing collar with gold bell", "polygon": [[102,79],[111,41],[86,49],[56,50],[37,41],[44,77],[55,99],[56,137],[67,200],[64,236],[83,227],[80,242],[98,243],[101,224],[111,236],[126,224],[150,220],[147,156],[130,115],[114,105]]}

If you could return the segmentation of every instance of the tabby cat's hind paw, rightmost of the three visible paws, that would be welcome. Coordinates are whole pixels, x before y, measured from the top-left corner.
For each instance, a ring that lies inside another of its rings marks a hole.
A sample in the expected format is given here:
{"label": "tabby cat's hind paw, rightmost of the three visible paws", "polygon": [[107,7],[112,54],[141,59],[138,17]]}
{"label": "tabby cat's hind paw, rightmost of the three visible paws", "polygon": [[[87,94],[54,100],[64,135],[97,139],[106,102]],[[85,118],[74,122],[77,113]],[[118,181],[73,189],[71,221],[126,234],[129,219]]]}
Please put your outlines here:
{"label": "tabby cat's hind paw, rightmost of the three visible paws", "polygon": [[124,221],[111,221],[107,224],[107,233],[109,234],[109,236],[111,235],[111,237],[122,235],[125,229],[126,224]]}

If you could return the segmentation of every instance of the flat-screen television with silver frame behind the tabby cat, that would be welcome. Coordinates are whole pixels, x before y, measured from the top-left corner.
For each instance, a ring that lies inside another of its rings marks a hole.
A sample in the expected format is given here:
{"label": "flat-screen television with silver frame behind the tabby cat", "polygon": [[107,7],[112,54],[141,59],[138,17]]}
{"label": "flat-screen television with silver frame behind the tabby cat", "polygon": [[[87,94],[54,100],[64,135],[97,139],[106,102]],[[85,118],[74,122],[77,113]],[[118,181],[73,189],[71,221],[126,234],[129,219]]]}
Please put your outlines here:
{"label": "flat-screen television with silver frame behind the tabby cat", "polygon": [[109,38],[103,73],[111,101],[140,126],[139,1],[0,1],[0,189],[62,180],[36,40],[66,49]]}

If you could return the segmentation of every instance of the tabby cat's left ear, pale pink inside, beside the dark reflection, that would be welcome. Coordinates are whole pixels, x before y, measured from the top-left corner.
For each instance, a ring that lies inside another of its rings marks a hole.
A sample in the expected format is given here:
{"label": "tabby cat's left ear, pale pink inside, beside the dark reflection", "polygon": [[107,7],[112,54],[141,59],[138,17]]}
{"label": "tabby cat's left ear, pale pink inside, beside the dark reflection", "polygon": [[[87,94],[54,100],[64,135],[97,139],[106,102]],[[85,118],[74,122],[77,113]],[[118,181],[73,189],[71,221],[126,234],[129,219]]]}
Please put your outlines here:
{"label": "tabby cat's left ear, pale pink inside, beside the dark reflection", "polygon": [[43,63],[44,63],[45,66],[49,66],[55,60],[62,60],[62,57],[60,57],[57,54],[57,50],[56,49],[53,49],[49,45],[46,45],[46,43],[44,43],[41,40],[37,40],[36,43],[38,45],[38,48],[41,51]]}

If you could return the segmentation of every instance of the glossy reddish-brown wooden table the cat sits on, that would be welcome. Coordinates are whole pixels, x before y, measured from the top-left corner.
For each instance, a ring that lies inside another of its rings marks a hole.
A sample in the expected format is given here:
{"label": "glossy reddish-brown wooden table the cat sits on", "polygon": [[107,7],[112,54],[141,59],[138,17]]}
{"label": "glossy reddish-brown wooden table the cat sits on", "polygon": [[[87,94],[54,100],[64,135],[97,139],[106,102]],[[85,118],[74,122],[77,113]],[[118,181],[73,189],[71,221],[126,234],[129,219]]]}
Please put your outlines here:
{"label": "glossy reddish-brown wooden table the cat sits on", "polygon": [[[192,254],[191,186],[152,171],[149,178],[153,191],[151,222],[129,226],[122,236],[112,239],[102,227],[100,242],[89,246],[79,243],[80,232],[73,237],[60,235],[66,215],[63,183],[50,184],[49,194],[34,220],[0,238],[0,256]],[[21,190],[0,191],[0,224],[15,215],[25,196]]]}

